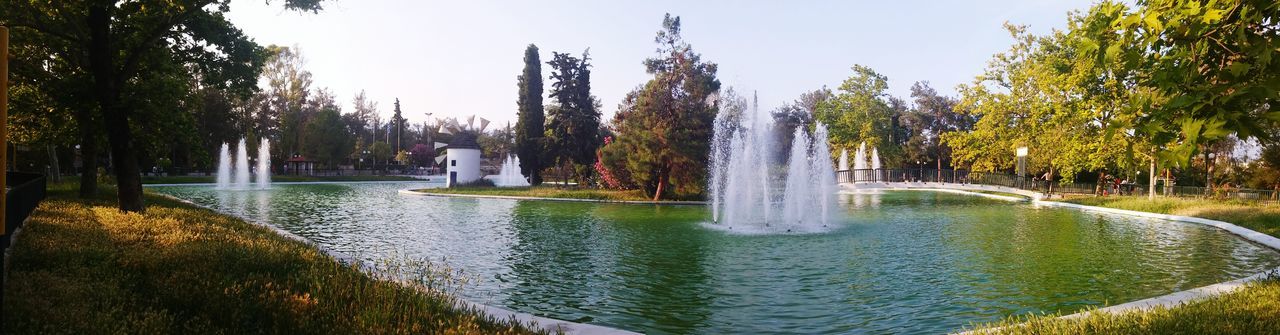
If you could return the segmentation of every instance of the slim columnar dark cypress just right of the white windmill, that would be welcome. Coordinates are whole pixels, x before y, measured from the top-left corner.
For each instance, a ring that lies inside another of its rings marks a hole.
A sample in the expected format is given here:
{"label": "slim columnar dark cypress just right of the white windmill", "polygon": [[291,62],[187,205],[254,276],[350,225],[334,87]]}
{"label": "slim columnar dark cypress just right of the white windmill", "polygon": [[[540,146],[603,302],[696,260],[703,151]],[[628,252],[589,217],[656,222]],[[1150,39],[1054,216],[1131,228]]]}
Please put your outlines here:
{"label": "slim columnar dark cypress just right of the white windmill", "polygon": [[525,49],[525,72],[516,77],[520,86],[520,98],[516,104],[516,156],[520,157],[520,173],[529,178],[529,184],[543,183],[543,65],[538,58],[538,46]]}

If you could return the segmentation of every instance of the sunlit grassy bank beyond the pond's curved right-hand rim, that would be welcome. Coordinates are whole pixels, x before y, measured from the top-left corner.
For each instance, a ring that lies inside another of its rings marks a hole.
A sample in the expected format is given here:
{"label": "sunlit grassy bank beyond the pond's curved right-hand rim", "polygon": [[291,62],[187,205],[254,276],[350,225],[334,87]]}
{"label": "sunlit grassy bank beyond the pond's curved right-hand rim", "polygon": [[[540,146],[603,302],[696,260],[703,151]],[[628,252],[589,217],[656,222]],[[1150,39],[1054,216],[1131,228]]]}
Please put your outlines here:
{"label": "sunlit grassy bank beyond the pond's curved right-hand rim", "polygon": [[1155,201],[1148,201],[1146,197],[1076,197],[1068,198],[1066,202],[1204,217],[1231,222],[1267,235],[1280,237],[1280,205],[1274,203],[1197,198],[1156,198]]}

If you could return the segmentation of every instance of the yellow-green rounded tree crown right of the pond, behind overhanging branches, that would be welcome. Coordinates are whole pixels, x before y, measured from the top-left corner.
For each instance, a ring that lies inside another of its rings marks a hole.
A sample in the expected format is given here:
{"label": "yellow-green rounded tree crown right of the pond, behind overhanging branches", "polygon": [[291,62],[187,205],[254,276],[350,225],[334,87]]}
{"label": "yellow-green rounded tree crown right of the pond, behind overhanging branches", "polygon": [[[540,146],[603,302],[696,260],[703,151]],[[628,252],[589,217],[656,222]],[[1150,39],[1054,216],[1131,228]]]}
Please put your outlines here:
{"label": "yellow-green rounded tree crown right of the pond, behind overhanging branches", "polygon": [[[1084,28],[1110,22],[1106,5],[1073,13],[1069,31],[1048,36],[1007,26],[1016,43],[960,87],[956,107],[979,118],[974,129],[942,136],[957,164],[1010,170],[1014,151],[1028,147],[1033,174],[1055,171],[1071,182],[1082,171],[1134,170],[1153,159],[1151,138],[1133,128],[1151,92],[1115,58],[1133,49],[1132,41],[1092,38]],[[1112,58],[1096,56],[1108,49]]]}

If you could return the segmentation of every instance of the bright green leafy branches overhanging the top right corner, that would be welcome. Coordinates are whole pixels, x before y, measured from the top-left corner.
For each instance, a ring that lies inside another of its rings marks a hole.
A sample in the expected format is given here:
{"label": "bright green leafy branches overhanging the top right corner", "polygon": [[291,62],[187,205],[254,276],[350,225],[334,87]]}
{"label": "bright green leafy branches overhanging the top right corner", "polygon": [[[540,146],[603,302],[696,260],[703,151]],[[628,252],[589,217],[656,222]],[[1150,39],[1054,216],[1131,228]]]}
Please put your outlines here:
{"label": "bright green leafy branches overhanging the top right corner", "polygon": [[[1158,93],[1132,125],[1185,165],[1203,144],[1235,134],[1267,138],[1280,123],[1280,6],[1267,0],[1148,0],[1129,10],[1096,6],[1112,24],[1088,29],[1100,59],[1140,69],[1137,82]],[[1138,47],[1108,46],[1108,40]],[[1115,50],[1114,50],[1115,49]],[[1105,52],[1102,50],[1106,50]]]}

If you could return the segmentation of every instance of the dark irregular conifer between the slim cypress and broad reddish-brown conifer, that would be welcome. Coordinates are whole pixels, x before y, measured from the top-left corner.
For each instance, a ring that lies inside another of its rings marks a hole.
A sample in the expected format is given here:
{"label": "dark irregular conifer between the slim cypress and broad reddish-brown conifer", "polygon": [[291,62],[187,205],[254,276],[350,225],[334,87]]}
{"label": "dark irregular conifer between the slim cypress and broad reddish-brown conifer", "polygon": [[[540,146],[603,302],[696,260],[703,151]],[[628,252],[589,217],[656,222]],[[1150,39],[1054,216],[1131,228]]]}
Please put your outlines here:
{"label": "dark irregular conifer between the slim cypress and broad reddish-brown conifer", "polygon": [[[588,184],[590,169],[581,169],[595,162],[595,150],[600,147],[600,111],[591,96],[591,64],[589,52],[582,58],[552,52],[552,93],[556,107],[547,115],[547,155],[557,166],[576,165],[580,184]],[[562,175],[562,178],[564,178]]]}

